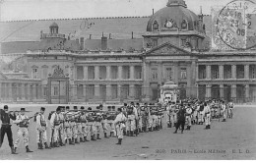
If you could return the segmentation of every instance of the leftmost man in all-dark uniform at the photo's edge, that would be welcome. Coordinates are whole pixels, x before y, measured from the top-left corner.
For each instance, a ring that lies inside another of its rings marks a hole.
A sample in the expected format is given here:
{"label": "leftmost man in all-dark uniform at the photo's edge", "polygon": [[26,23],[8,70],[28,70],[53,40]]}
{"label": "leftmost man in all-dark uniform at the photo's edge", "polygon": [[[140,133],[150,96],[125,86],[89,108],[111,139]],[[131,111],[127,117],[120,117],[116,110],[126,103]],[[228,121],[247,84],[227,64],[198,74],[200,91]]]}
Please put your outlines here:
{"label": "leftmost man in all-dark uniform at the photo's edge", "polygon": [[9,146],[11,147],[11,153],[17,154],[14,149],[13,133],[12,133],[12,128],[11,128],[12,125],[11,125],[10,119],[15,121],[16,115],[8,112],[8,105],[5,105],[4,110],[0,109],[0,120],[2,122],[2,126],[0,129],[0,148],[3,144],[4,136],[5,136],[5,134],[7,134]]}

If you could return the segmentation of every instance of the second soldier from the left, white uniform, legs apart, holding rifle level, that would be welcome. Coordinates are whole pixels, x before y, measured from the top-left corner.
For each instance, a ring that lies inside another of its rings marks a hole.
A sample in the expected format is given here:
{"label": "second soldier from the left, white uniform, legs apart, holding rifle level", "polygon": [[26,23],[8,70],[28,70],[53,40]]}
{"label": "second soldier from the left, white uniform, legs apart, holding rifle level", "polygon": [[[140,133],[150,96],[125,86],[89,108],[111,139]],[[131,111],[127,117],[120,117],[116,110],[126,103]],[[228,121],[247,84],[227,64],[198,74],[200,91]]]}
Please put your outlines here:
{"label": "second soldier from the left, white uniform, legs apart, holding rifle level", "polygon": [[30,118],[25,115],[25,108],[21,108],[20,115],[17,116],[16,121],[14,122],[17,124],[18,128],[18,138],[15,141],[14,144],[14,152],[16,153],[17,147],[20,144],[21,138],[23,138],[23,142],[26,146],[27,152],[32,152],[32,150],[29,148],[29,124],[30,124]]}

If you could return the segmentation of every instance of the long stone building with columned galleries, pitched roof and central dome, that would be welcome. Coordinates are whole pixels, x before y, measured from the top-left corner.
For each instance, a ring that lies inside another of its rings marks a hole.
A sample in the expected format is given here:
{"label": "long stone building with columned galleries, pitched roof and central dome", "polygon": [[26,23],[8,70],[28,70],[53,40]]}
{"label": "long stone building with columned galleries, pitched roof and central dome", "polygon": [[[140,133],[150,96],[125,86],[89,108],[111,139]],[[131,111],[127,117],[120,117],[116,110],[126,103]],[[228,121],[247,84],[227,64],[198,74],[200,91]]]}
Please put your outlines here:
{"label": "long stone building with columned galleries, pitched roof and central dome", "polygon": [[256,101],[255,50],[211,49],[212,17],[168,0],[151,17],[1,22],[1,101]]}

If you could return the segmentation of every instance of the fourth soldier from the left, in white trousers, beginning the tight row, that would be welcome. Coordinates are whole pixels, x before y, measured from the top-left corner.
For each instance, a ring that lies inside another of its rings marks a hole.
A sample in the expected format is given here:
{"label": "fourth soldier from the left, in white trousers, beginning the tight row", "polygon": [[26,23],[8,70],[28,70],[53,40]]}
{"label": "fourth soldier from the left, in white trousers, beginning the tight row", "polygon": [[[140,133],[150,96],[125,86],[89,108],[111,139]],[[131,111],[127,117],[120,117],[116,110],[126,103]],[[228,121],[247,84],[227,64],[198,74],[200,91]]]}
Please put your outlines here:
{"label": "fourth soldier from the left, in white trousers, beginning the tight row", "polygon": [[59,131],[60,131],[60,114],[61,108],[57,107],[56,112],[51,115],[50,126],[51,126],[51,145],[52,147],[59,147]]}

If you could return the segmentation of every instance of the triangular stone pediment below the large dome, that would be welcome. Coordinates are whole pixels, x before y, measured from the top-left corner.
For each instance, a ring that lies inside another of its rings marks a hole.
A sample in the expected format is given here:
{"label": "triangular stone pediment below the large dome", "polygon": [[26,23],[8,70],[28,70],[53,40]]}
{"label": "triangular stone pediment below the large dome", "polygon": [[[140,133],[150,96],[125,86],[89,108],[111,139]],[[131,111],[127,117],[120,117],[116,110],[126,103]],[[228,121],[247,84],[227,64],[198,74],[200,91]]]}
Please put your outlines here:
{"label": "triangular stone pediment below the large dome", "polygon": [[189,55],[191,52],[179,48],[169,42],[163,43],[145,53],[146,55]]}

